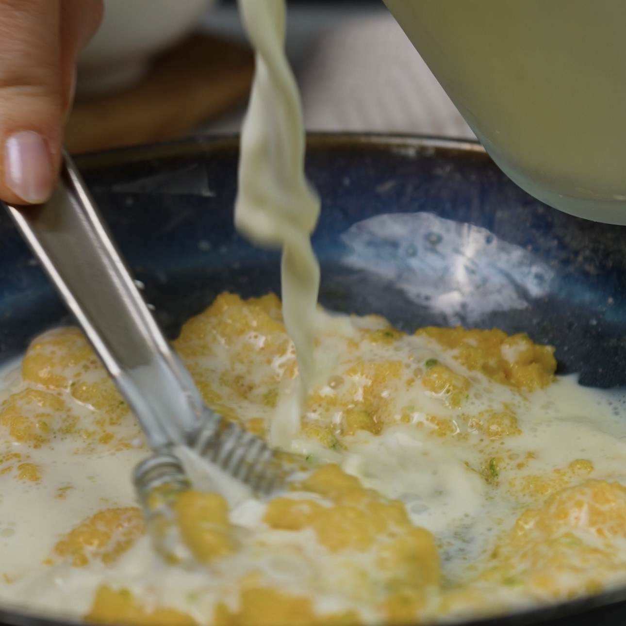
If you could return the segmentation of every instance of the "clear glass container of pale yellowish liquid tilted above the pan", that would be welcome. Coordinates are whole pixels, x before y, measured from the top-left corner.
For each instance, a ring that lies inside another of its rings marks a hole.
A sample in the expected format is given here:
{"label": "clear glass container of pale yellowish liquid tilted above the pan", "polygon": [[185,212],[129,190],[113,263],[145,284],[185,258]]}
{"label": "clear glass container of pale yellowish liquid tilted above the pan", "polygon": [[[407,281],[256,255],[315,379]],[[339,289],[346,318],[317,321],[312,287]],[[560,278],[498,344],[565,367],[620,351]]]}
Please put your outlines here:
{"label": "clear glass container of pale yellowish liquid tilted above the pan", "polygon": [[626,224],[623,0],[384,2],[514,182]]}

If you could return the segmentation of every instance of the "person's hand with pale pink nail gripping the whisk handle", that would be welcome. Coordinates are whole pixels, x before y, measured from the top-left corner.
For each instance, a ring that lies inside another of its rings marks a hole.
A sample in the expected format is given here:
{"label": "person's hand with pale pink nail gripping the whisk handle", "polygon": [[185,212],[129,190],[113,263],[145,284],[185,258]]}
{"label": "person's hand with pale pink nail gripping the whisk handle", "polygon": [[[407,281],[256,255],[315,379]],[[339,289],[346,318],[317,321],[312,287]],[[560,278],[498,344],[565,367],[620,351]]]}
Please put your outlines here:
{"label": "person's hand with pale pink nail gripping the whisk handle", "polygon": [[0,0],[0,199],[48,199],[59,170],[76,57],[102,0]]}

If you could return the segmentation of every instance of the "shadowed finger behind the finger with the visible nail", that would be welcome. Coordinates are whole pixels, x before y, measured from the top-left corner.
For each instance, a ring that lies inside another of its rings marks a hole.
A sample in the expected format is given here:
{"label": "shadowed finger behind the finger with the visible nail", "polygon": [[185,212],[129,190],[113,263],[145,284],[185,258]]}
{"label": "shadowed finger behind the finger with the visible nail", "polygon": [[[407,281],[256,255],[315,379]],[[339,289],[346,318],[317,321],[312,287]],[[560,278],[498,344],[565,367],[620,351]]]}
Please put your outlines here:
{"label": "shadowed finger behind the finger with the visible nail", "polygon": [[102,0],[61,0],[61,95],[64,116],[74,98],[76,58],[100,26]]}

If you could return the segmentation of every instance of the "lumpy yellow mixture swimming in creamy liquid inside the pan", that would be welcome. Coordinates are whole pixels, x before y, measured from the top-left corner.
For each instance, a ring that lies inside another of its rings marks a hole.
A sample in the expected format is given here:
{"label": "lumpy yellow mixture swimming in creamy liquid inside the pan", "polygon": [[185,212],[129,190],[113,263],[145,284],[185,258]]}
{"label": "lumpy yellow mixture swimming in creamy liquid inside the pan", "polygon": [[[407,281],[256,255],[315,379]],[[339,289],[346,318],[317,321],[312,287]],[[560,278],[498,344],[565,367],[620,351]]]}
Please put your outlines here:
{"label": "lumpy yellow mixture swimming in creamy liquid inside the pan", "polygon": [[[178,564],[146,535],[129,476],[149,451],[105,370],[76,329],[36,339],[0,392],[2,605],[98,623],[399,623],[626,580],[618,396],[555,377],[552,348],[523,334],[408,335],[321,309],[316,331],[292,444],[307,471],[269,501],[180,495],[194,558]],[[264,438],[297,393],[274,295],[218,296],[174,346],[207,404]]]}

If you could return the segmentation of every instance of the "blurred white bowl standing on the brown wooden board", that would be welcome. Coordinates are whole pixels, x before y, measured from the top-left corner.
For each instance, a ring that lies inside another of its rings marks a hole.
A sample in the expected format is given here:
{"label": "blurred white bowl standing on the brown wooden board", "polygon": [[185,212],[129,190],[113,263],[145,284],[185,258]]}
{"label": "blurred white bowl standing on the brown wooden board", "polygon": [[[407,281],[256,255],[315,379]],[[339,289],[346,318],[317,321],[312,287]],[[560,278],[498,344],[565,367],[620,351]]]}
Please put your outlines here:
{"label": "blurred white bowl standing on the brown wooden board", "polygon": [[78,59],[79,94],[130,86],[150,59],[193,31],[215,0],[104,0],[98,32]]}

